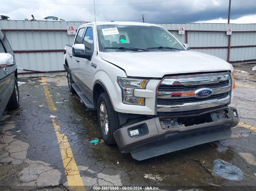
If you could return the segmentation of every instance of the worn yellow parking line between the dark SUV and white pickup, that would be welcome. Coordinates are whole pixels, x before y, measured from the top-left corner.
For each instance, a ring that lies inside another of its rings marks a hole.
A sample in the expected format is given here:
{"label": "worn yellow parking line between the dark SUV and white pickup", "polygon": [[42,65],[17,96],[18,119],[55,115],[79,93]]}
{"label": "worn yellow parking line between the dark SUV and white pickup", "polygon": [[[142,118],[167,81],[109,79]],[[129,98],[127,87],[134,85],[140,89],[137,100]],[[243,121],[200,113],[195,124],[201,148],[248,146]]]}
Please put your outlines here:
{"label": "worn yellow parking line between the dark SUV and white pickup", "polygon": [[[42,83],[46,83],[45,77],[42,77]],[[43,85],[43,88],[45,91],[45,97],[48,103],[49,110],[53,112],[56,111],[57,108],[52,100],[48,86]],[[55,121],[55,119],[52,119],[52,123],[58,139],[61,156],[62,156],[62,162],[65,169],[65,174],[68,180],[68,186],[71,190],[85,191],[85,186],[83,184],[78,167],[76,165],[75,158],[73,156],[71,147],[68,142],[68,138],[66,135],[59,132],[60,126]]]}

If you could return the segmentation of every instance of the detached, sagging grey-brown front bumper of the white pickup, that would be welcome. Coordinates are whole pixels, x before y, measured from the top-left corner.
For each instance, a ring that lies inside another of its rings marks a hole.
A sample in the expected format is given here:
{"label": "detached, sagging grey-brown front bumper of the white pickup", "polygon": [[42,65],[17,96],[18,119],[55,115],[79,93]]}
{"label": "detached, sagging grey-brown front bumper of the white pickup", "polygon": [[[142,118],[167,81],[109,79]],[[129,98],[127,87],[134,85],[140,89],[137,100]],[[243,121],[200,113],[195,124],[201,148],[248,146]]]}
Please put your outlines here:
{"label": "detached, sagging grey-brown front bumper of the white pickup", "polygon": [[238,122],[237,110],[225,106],[190,114],[155,116],[116,130],[114,137],[122,153],[131,153],[141,161],[230,137],[230,128]]}

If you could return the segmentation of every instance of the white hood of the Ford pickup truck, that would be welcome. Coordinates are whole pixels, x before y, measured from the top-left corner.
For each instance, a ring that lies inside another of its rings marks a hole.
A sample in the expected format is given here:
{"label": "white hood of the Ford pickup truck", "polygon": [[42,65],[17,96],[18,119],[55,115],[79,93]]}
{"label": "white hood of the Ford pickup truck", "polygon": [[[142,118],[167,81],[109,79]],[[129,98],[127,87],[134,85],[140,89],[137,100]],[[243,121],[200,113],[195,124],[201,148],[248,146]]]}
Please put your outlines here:
{"label": "white hood of the Ford pickup truck", "polygon": [[228,62],[195,51],[101,52],[101,58],[133,77],[162,78],[168,74],[232,70]]}

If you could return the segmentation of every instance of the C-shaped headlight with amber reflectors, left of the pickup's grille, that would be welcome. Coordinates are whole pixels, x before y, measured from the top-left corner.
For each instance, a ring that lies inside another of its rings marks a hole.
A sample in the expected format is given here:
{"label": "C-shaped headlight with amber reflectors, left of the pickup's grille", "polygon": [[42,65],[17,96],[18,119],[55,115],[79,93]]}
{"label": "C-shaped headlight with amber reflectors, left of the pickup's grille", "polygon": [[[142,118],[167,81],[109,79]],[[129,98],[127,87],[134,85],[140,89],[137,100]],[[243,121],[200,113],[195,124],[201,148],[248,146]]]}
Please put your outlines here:
{"label": "C-shaped headlight with amber reflectors, left of the pickup's grille", "polygon": [[122,90],[123,103],[145,105],[145,97],[135,97],[133,91],[135,88],[145,89],[148,80],[118,77],[117,82]]}

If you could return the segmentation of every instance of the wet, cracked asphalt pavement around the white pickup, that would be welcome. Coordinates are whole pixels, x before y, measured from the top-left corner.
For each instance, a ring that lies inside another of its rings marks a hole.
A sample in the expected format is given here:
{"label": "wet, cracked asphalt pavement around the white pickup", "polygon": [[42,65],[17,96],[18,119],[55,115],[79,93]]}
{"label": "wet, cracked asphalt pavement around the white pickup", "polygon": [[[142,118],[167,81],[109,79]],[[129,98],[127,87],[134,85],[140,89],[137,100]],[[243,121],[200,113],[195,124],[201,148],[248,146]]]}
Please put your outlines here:
{"label": "wet, cracked asphalt pavement around the white pickup", "polygon": [[[21,107],[6,110],[0,119],[0,190],[93,190],[94,186],[255,190],[256,73],[241,65],[234,68],[231,106],[238,109],[241,123],[232,128],[231,137],[144,161],[104,143],[97,114],[69,93],[65,76],[20,78],[26,82],[19,84]],[[50,109],[52,103],[56,110]],[[99,142],[91,143],[96,138]],[[238,166],[243,180],[215,174],[216,159]],[[72,188],[73,182],[79,186]]]}

